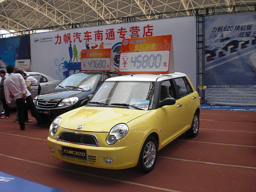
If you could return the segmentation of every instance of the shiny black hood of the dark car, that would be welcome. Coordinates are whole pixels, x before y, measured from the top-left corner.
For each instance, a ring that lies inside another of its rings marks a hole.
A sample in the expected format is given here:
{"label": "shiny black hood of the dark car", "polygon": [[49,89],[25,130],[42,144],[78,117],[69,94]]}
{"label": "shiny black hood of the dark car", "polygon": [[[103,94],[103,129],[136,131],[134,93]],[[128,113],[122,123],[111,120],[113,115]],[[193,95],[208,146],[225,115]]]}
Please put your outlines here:
{"label": "shiny black hood of the dark car", "polygon": [[37,99],[47,100],[47,101],[59,101],[69,97],[78,97],[84,94],[89,94],[89,92],[80,91],[80,90],[62,90],[62,89],[53,89],[42,93],[37,96]]}

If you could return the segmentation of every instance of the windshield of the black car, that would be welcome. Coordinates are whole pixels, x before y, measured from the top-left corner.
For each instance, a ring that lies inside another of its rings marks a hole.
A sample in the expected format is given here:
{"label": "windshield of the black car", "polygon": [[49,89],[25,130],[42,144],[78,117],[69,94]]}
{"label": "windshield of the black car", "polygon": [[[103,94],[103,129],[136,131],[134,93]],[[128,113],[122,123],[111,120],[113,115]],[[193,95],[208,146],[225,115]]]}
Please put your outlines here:
{"label": "windshield of the black car", "polygon": [[99,76],[99,74],[74,74],[59,83],[56,89],[80,89],[89,91],[94,88]]}

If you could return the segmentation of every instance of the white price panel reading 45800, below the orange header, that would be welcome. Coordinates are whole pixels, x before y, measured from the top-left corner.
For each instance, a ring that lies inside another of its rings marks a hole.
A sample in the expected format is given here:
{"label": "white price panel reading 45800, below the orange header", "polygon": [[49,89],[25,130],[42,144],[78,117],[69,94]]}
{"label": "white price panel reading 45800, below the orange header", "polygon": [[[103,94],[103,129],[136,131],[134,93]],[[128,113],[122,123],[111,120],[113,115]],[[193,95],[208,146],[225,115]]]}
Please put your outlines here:
{"label": "white price panel reading 45800, below the orange header", "polygon": [[164,72],[169,69],[169,51],[121,53],[119,71]]}

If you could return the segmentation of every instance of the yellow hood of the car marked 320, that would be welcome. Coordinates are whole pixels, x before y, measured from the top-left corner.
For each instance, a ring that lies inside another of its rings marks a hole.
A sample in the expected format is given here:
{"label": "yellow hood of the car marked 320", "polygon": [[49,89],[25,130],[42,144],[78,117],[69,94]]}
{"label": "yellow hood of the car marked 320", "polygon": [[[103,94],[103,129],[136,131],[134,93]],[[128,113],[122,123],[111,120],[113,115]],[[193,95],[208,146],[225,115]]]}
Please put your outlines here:
{"label": "yellow hood of the car marked 320", "polygon": [[82,106],[60,115],[61,123],[59,126],[65,129],[77,130],[77,126],[82,125],[83,128],[80,131],[109,132],[118,123],[127,123],[150,112],[122,108]]}

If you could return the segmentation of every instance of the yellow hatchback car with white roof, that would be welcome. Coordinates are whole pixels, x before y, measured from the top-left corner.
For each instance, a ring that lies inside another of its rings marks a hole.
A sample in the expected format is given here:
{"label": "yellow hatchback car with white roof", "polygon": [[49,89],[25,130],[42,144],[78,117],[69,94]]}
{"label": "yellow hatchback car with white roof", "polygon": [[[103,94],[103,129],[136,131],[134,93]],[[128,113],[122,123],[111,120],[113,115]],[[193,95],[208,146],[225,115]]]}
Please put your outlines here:
{"label": "yellow hatchback car with white roof", "polygon": [[53,157],[79,165],[150,172],[157,153],[199,131],[200,99],[184,73],[106,79],[86,106],[50,125]]}

